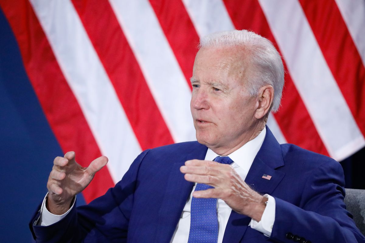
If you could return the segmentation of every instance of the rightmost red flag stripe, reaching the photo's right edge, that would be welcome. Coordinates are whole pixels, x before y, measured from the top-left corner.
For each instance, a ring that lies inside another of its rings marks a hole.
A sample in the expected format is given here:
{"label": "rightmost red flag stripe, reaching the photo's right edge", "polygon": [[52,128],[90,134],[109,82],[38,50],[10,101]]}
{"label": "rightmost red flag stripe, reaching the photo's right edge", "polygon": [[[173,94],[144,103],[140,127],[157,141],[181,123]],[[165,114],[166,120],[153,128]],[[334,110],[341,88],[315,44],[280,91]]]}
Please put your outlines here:
{"label": "rightmost red flag stripe, reaching the photo's right edge", "polygon": [[324,59],[365,136],[365,67],[341,12],[335,1],[299,2]]}

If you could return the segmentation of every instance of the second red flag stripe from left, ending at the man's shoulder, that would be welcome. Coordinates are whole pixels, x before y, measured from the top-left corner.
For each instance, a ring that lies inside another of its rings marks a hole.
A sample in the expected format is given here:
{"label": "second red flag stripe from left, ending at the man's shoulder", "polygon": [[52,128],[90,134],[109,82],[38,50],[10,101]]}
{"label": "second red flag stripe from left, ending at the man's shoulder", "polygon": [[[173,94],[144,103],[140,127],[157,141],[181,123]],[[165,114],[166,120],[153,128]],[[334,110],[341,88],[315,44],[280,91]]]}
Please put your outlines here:
{"label": "second red flag stripe from left, ending at the man's shoulder", "polygon": [[107,0],[72,1],[143,150],[173,138]]}

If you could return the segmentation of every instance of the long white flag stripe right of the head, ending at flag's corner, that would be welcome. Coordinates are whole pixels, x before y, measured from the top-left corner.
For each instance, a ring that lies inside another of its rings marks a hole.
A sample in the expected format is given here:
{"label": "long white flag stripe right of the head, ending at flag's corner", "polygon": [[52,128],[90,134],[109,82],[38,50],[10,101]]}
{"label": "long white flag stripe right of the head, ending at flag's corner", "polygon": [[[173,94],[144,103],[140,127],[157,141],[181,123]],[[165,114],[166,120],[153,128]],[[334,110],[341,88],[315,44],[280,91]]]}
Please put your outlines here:
{"label": "long white flag stripe right of the head, ending at flag's corner", "polygon": [[298,1],[283,0],[281,4],[270,0],[259,2],[293,82],[330,156],[342,160],[362,148],[364,137]]}

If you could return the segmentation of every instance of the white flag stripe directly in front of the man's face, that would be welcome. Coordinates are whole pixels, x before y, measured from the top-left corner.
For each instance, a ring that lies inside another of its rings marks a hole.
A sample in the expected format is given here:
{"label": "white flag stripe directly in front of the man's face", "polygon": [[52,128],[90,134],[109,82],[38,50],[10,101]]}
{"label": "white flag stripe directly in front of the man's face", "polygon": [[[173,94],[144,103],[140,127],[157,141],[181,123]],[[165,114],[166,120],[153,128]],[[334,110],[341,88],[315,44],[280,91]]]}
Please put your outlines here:
{"label": "white flag stripe directly in front of the man's face", "polygon": [[191,91],[150,3],[110,3],[174,141],[196,140]]}

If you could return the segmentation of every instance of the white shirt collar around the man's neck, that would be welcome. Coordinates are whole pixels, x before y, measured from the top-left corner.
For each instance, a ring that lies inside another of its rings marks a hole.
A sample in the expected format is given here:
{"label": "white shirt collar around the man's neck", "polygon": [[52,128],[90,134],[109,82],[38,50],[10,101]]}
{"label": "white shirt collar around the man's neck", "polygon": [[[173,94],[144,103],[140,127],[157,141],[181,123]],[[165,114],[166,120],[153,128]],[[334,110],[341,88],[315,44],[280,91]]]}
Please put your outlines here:
{"label": "white shirt collar around the man's neck", "polygon": [[[234,161],[239,167],[244,169],[246,172],[249,171],[258,150],[260,150],[262,143],[264,142],[266,135],[266,127],[251,141],[246,142],[241,148],[228,154],[231,160]],[[207,150],[205,160],[214,160],[215,157],[220,156],[213,152],[213,150]]]}

